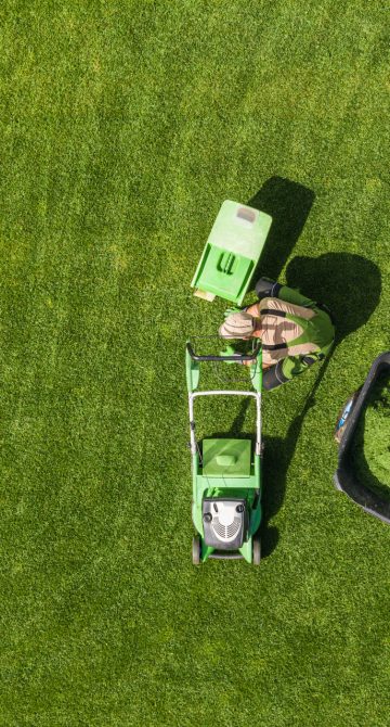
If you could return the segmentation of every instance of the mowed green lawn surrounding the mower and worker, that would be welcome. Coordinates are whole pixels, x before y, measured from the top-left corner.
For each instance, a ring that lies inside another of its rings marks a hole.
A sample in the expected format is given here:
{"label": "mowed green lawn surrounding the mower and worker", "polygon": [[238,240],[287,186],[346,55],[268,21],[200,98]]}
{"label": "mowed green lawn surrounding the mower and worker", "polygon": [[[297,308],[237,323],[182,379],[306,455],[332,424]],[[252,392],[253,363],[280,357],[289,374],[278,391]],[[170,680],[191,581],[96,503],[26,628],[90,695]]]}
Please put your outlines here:
{"label": "mowed green lawn surrounding the mower and worker", "polygon": [[[390,528],[332,480],[390,343],[386,3],[0,13],[1,727],[387,726]],[[184,344],[224,304],[190,282],[258,192],[262,272],[338,340],[264,395],[261,567],[196,570]]]}

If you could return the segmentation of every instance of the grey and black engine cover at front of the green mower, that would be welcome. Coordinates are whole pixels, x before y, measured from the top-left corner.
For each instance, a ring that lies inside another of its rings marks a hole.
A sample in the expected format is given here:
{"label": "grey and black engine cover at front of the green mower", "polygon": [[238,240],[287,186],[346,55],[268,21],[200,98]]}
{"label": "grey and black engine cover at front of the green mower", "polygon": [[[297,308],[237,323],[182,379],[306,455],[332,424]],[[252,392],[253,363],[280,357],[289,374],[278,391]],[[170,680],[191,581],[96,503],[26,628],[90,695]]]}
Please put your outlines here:
{"label": "grey and black engine cover at front of the green mower", "polygon": [[202,513],[207,546],[218,550],[237,550],[243,546],[249,525],[245,499],[205,497]]}

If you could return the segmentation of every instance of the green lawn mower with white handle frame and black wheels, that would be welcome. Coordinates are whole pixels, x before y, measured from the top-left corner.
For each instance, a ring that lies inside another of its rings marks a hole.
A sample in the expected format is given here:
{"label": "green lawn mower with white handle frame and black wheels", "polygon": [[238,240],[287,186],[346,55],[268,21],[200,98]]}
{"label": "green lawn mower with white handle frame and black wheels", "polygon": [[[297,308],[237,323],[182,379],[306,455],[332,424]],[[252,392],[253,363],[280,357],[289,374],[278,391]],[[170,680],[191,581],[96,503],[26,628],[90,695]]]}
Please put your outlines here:
{"label": "green lawn mower with white handle frame and black wheels", "polygon": [[[192,516],[197,534],[193,538],[193,563],[209,558],[238,559],[259,565],[261,521],[261,344],[249,354],[203,356],[186,344],[191,457],[193,477]],[[200,362],[251,360],[253,391],[197,391]],[[257,407],[256,441],[205,438],[197,442],[194,404],[199,396],[250,396]]]}

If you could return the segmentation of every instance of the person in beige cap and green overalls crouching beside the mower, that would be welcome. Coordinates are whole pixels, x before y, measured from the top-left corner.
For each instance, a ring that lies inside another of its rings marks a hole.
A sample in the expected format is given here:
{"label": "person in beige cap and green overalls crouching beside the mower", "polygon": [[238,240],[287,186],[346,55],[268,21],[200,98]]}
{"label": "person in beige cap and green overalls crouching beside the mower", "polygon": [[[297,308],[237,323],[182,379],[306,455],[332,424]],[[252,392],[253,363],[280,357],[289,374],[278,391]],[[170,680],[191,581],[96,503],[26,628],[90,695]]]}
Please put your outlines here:
{"label": "person in beige cap and green overalls crouching beside the mower", "polygon": [[258,303],[226,311],[219,335],[261,339],[263,388],[272,390],[325,358],[335,340],[335,326],[324,304],[292,288],[260,278],[256,293]]}

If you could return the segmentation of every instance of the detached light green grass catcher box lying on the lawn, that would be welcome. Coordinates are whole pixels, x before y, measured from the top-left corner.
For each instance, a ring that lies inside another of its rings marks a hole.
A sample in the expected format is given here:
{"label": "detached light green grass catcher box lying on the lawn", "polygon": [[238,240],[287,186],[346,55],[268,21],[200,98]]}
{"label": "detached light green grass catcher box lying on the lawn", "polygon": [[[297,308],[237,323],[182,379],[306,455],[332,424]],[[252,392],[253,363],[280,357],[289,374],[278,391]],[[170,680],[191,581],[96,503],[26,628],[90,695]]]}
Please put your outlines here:
{"label": "detached light green grass catcher box lying on the lawn", "polygon": [[242,305],[272,222],[253,207],[225,200],[192,280],[195,295]]}

